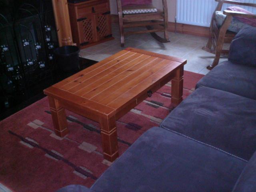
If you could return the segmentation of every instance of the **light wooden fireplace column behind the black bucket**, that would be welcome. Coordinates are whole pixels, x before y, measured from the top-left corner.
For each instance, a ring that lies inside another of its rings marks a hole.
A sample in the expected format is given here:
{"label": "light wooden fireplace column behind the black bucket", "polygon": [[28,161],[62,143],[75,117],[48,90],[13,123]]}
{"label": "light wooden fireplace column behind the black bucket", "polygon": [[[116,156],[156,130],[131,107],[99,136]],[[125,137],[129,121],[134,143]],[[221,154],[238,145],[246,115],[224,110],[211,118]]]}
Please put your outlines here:
{"label": "light wooden fireplace column behind the black bucket", "polygon": [[59,46],[73,45],[67,0],[52,0]]}

